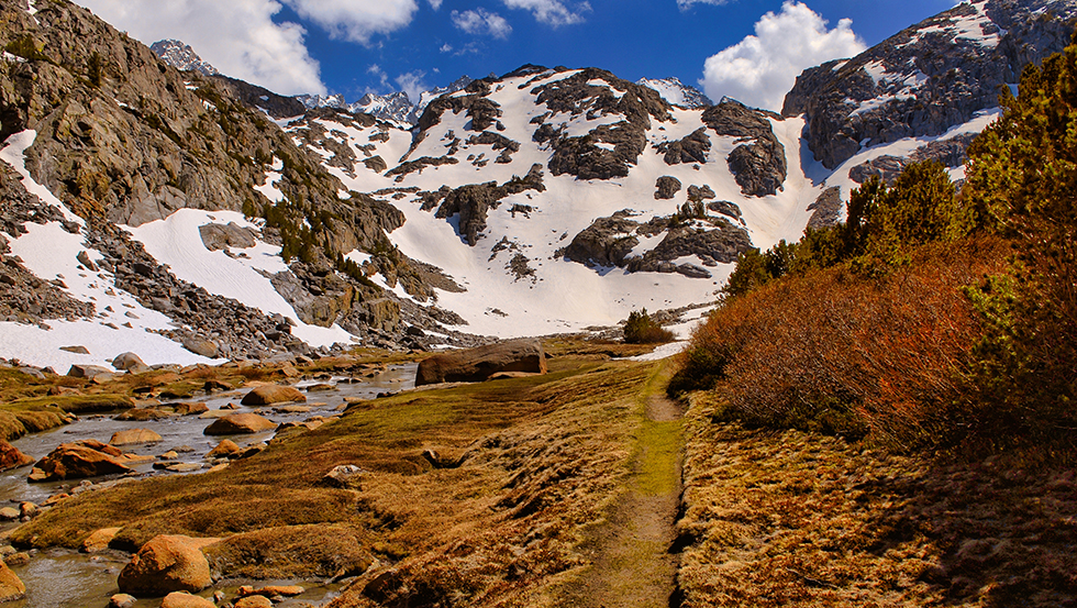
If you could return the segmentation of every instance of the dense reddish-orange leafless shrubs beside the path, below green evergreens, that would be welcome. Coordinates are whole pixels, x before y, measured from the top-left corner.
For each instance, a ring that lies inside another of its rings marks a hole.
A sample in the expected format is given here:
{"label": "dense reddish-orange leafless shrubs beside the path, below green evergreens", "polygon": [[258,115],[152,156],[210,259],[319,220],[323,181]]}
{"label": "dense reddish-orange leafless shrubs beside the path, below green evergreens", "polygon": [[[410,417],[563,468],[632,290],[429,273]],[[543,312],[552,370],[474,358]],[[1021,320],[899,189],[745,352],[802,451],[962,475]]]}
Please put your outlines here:
{"label": "dense reddish-orange leafless shrubs beside the path, below green evergreens", "polygon": [[696,332],[686,368],[720,363],[726,413],[748,423],[922,446],[951,419],[981,336],[964,287],[1006,253],[998,240],[937,244],[884,279],[830,268],[769,284]]}

